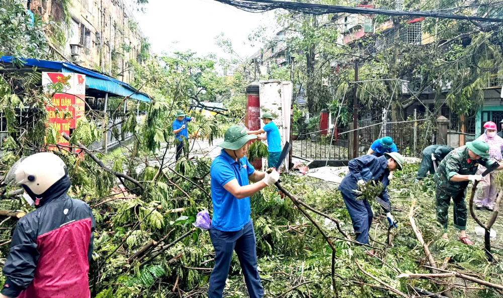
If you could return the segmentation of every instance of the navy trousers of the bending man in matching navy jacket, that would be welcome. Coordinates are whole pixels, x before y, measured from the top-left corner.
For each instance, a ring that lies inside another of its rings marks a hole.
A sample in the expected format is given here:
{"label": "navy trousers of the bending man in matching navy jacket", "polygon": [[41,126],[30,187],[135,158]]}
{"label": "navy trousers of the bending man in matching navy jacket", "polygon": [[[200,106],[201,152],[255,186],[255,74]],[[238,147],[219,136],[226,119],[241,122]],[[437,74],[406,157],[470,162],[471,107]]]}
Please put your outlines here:
{"label": "navy trousers of the bending man in matching navy jacket", "polygon": [[341,194],[353,222],[353,229],[358,234],[356,241],[368,244],[370,225],[374,218],[369,202],[367,200],[357,200],[356,194],[347,195],[344,192],[341,192]]}

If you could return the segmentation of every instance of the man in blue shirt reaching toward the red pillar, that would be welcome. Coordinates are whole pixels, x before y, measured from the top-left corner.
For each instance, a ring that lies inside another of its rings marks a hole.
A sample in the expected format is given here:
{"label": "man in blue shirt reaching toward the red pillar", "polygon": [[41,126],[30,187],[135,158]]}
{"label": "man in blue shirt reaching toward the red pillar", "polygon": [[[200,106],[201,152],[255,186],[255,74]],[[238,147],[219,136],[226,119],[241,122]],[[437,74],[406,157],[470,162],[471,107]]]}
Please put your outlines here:
{"label": "man in blue shirt reaching toward the red pillar", "polygon": [[[261,140],[267,139],[267,151],[269,151],[267,165],[270,168],[274,168],[276,167],[281,155],[280,131],[278,129],[278,126],[276,126],[276,124],[273,122],[273,119],[276,118],[272,116],[271,113],[264,113],[261,119],[265,124],[264,127],[259,130],[249,131],[248,135],[254,134],[257,135],[257,138]],[[264,133],[266,134],[266,136],[261,135]]]}

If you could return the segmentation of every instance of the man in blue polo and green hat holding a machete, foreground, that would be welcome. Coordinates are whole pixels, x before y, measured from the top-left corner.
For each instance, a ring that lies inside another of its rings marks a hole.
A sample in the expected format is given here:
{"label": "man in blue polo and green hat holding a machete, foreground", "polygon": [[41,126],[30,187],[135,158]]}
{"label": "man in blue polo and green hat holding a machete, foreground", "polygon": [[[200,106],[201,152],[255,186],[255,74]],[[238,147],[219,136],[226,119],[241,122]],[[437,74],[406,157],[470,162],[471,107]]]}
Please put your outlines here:
{"label": "man in blue polo and green hat holding a machete, foreground", "polygon": [[[246,159],[248,141],[256,139],[237,126],[231,126],[222,152],[211,163],[213,219],[209,230],[215,248],[215,266],[211,271],[208,298],[222,298],[233,251],[236,251],[250,298],[260,298],[264,289],[257,270],[257,249],[250,219],[250,196],[278,181],[280,174],[256,171]],[[255,183],[249,184],[249,181]]]}

